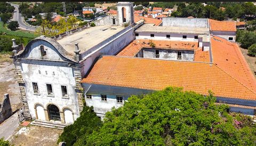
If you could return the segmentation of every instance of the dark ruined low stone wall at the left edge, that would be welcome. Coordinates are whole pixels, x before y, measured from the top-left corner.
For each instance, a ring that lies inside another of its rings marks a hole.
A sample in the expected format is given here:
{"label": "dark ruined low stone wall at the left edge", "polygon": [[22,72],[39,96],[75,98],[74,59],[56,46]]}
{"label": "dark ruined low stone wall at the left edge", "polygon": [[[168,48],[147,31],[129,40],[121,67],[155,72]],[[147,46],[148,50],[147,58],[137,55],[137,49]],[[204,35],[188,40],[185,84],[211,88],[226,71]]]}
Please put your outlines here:
{"label": "dark ruined low stone wall at the left edge", "polygon": [[4,99],[0,102],[0,124],[10,116],[12,116],[12,107],[9,94],[4,94]]}

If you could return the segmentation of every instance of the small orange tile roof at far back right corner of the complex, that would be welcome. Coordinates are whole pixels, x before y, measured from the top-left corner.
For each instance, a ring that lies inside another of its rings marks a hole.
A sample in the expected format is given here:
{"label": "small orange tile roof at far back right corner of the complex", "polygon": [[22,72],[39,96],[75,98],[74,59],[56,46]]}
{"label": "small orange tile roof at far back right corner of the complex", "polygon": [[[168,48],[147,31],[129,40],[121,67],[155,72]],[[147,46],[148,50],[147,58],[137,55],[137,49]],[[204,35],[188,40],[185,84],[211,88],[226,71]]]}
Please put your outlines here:
{"label": "small orange tile roof at far back right corner of the complex", "polygon": [[236,24],[234,21],[217,21],[209,19],[210,30],[213,31],[236,31]]}

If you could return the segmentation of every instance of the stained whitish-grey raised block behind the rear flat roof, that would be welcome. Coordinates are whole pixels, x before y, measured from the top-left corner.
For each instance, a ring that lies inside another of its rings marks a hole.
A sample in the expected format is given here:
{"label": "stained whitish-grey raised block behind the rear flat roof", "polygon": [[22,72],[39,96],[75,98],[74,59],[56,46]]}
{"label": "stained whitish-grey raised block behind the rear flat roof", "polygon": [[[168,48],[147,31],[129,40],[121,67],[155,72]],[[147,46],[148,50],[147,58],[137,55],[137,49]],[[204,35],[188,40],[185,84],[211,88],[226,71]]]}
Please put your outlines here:
{"label": "stained whitish-grey raised block behind the rear flat roof", "polygon": [[206,18],[163,18],[163,26],[188,27],[188,28],[209,28]]}

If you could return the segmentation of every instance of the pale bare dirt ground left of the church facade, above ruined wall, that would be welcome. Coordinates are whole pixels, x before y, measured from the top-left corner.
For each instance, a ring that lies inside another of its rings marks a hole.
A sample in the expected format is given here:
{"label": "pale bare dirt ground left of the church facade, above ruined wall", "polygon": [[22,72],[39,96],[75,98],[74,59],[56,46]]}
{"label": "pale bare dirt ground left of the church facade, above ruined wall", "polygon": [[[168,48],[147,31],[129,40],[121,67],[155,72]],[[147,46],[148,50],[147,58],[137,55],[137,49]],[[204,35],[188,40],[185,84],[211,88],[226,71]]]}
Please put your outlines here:
{"label": "pale bare dirt ground left of the church facade, above ruined wall", "polygon": [[20,103],[20,89],[15,79],[15,67],[9,56],[0,55],[0,102],[4,94],[9,93],[12,111],[15,111]]}

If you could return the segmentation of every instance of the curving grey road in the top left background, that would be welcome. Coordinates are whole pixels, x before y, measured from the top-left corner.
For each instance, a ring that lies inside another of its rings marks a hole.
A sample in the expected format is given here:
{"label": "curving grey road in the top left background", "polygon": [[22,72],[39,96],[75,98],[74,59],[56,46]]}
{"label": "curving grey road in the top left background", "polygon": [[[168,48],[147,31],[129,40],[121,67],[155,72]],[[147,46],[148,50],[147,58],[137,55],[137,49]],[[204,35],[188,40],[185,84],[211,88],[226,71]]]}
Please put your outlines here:
{"label": "curving grey road in the top left background", "polygon": [[29,30],[29,31],[36,31],[36,28],[28,26],[25,22],[23,22],[23,17],[21,16],[21,13],[19,13],[19,5],[12,4],[12,6],[15,7],[14,13],[13,13],[13,21],[18,21],[19,28],[23,30]]}

